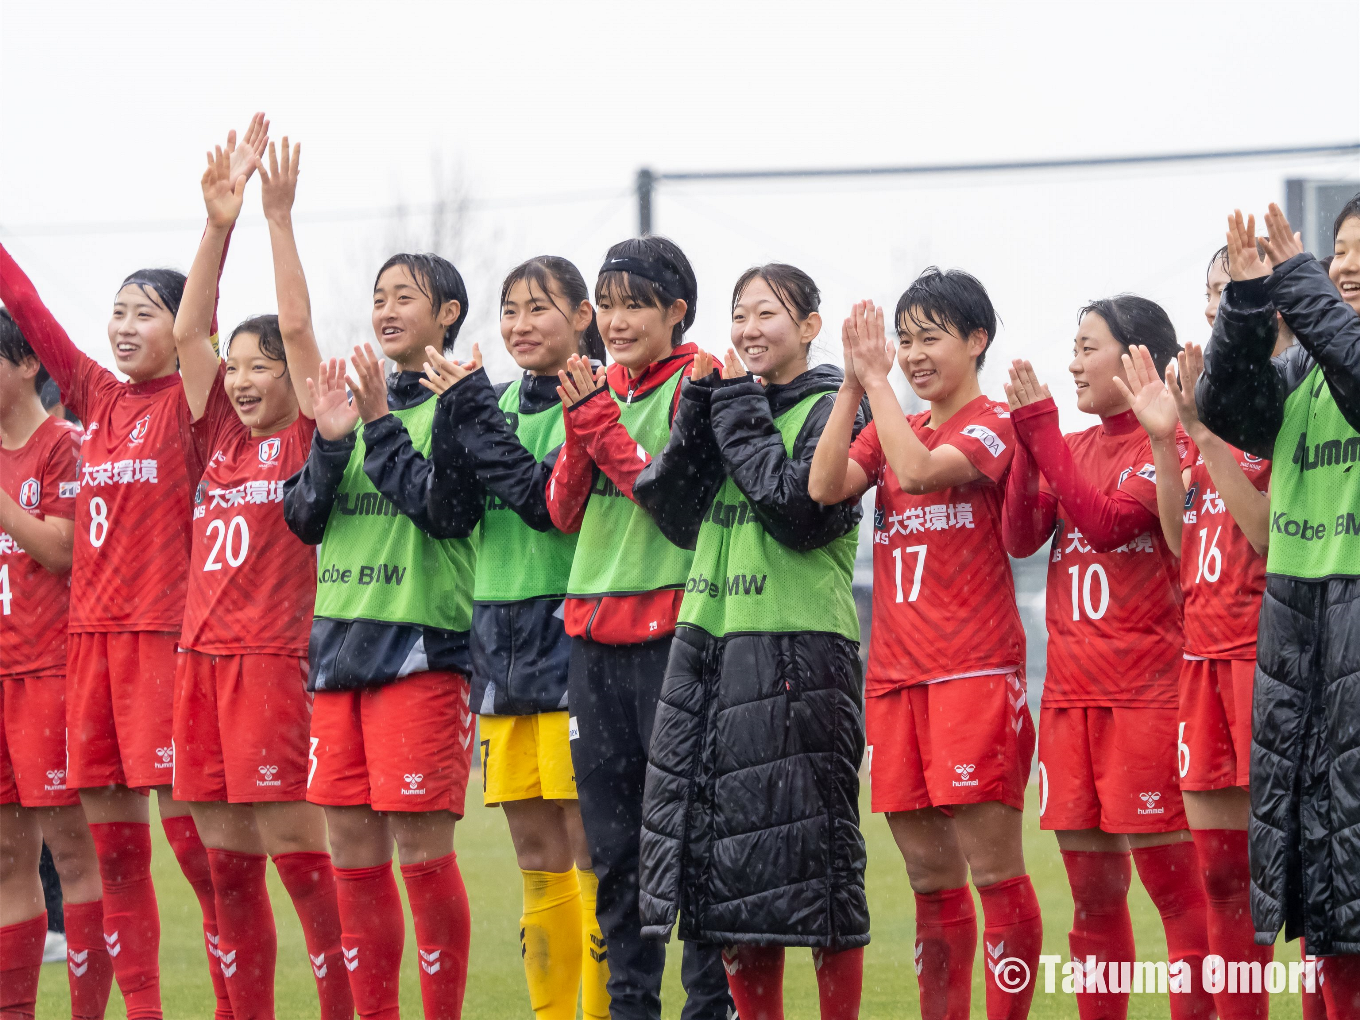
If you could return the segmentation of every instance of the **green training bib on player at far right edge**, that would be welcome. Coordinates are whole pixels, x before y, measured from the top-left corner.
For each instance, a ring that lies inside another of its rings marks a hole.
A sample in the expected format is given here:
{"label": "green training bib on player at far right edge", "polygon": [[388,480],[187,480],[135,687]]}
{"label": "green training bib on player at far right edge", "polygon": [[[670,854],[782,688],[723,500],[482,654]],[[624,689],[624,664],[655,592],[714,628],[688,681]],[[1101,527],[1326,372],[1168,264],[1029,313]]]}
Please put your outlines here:
{"label": "green training bib on player at far right edge", "polygon": [[1270,465],[1266,573],[1360,577],[1360,434],[1318,364],[1284,403]]}

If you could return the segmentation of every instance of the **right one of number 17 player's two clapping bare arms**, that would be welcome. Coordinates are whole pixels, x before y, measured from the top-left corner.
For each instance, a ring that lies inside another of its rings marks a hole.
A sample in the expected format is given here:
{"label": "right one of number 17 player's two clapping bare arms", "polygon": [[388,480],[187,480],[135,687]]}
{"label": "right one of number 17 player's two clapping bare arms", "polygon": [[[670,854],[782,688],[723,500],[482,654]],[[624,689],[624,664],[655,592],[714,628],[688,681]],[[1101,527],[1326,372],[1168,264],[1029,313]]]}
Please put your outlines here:
{"label": "right one of number 17 player's two clapping bare arms", "polygon": [[949,445],[928,450],[907,423],[898,394],[888,382],[894,358],[884,333],[883,309],[868,301],[860,302],[847,324],[855,375],[869,396],[884,460],[898,476],[902,491],[919,496],[981,479],[982,472],[963,452]]}

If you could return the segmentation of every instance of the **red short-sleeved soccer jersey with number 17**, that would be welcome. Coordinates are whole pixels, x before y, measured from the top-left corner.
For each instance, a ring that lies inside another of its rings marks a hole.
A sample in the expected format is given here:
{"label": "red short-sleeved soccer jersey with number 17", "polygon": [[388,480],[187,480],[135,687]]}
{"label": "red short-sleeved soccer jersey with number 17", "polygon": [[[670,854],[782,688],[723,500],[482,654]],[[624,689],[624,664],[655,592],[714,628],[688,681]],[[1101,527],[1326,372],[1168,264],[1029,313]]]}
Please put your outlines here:
{"label": "red short-sleeved soccer jersey with number 17", "polygon": [[903,492],[870,423],[850,457],[877,486],[873,628],[865,694],[1024,668],[1024,628],[1001,544],[1004,479],[1015,454],[1005,404],[976,397],[940,428],[907,418],[926,449],[953,446],[982,472],[967,486]]}

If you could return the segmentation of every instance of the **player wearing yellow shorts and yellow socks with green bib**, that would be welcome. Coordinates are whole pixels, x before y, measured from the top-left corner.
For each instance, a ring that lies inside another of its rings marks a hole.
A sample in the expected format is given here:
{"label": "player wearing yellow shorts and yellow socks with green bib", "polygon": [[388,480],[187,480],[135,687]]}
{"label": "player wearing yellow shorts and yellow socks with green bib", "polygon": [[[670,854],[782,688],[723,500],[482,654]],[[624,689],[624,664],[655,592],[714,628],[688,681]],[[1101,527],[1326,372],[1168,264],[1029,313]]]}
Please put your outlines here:
{"label": "player wearing yellow shorts and yellow socks with green bib", "polygon": [[[590,291],[566,258],[517,265],[500,286],[500,337],[524,374],[492,385],[481,351],[458,363],[426,348],[439,393],[431,492],[483,494],[472,605],[472,710],[481,717],[483,798],[505,809],[524,874],[520,945],[539,1020],[608,1020],[609,975],[596,880],[577,808],[567,738],[562,623],[577,536],[552,525],[548,477],[566,430],[558,371],[574,354],[604,360]],[[431,507],[432,513],[438,507]]]}

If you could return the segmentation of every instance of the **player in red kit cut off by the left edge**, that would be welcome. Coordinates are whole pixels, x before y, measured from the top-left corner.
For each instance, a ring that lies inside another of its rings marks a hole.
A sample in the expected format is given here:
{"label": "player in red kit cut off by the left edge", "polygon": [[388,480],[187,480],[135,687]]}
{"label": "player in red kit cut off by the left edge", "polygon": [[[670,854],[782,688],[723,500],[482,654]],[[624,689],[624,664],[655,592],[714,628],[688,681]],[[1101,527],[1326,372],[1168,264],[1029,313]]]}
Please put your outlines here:
{"label": "player in red kit cut off by the left edge", "polygon": [[48,932],[38,858],[61,876],[73,1017],[103,1016],[113,967],[94,840],[67,789],[67,608],[80,430],[50,418],[48,374],[0,310],[0,1016],[33,1016]]}

